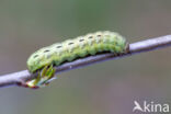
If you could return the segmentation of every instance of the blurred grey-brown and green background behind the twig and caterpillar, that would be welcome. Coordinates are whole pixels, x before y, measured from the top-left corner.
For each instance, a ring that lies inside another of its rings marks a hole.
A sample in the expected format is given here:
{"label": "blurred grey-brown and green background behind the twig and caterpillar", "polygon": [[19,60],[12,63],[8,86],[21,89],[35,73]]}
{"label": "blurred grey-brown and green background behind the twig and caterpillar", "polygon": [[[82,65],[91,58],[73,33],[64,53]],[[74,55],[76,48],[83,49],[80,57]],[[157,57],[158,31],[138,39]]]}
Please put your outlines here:
{"label": "blurred grey-brown and green background behind the twig and caterpillar", "polygon": [[[101,30],[129,43],[171,34],[170,0],[1,0],[0,75],[56,42]],[[0,114],[133,114],[134,100],[171,103],[171,48],[60,73],[39,90],[0,89]],[[156,113],[157,114],[157,113]]]}

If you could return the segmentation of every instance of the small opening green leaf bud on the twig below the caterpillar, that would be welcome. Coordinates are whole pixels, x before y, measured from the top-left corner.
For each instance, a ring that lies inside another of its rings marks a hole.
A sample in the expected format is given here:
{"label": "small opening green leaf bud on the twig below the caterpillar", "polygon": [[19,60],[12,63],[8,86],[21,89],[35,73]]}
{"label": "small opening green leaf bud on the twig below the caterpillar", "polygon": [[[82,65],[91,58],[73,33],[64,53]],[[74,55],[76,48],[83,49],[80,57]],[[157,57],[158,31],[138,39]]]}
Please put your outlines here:
{"label": "small opening green leaf bud on the twig below the caterpillar", "polygon": [[53,68],[53,65],[45,66],[41,71],[38,71],[38,76],[35,79],[26,81],[25,87],[31,89],[38,89],[42,87],[46,87],[52,82],[55,77],[55,68]]}

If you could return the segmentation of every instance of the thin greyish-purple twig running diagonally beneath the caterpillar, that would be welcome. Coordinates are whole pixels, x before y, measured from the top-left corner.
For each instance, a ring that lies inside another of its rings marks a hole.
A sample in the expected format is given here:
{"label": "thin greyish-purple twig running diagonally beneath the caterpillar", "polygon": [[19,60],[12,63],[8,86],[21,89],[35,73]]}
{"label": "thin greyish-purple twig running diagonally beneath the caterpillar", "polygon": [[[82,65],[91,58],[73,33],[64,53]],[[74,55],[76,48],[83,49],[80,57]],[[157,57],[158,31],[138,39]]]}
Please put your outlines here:
{"label": "thin greyish-purple twig running diagonally beneath the caterpillar", "polygon": [[[121,58],[125,56],[130,56],[134,54],[139,54],[142,52],[149,52],[149,50],[153,50],[158,48],[163,48],[166,46],[171,46],[171,35],[160,36],[160,37],[129,44],[128,53],[123,54],[123,55],[115,56],[114,54],[109,53],[109,54],[90,56],[87,58],[80,58],[71,62],[66,62],[61,66],[56,67],[56,73],[84,67],[88,65],[93,65],[95,62],[101,62],[104,60],[116,59],[116,58]],[[36,77],[36,73],[31,75],[27,70],[0,76],[0,87],[21,86],[26,80],[33,79],[35,77]]]}

